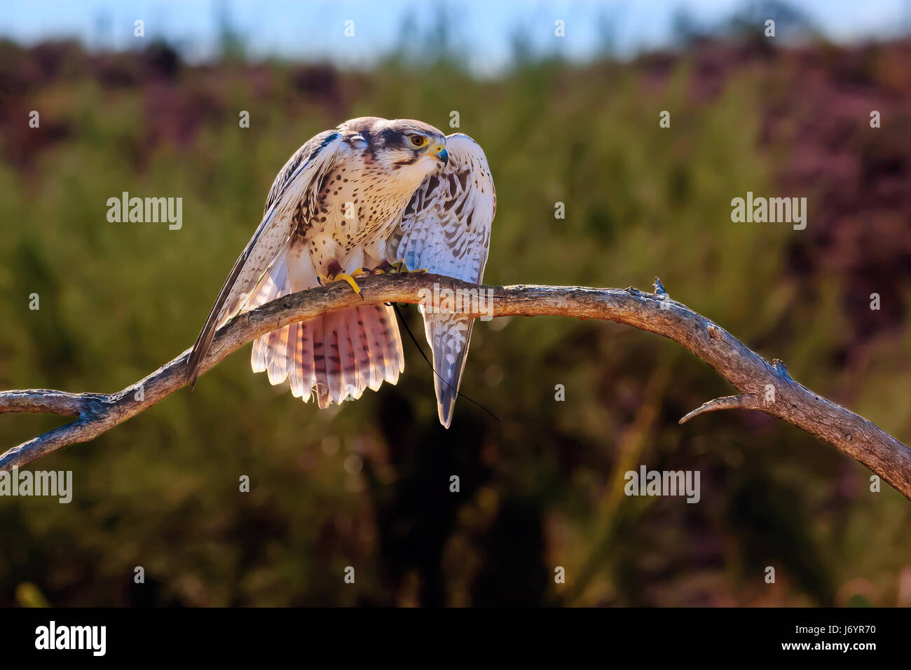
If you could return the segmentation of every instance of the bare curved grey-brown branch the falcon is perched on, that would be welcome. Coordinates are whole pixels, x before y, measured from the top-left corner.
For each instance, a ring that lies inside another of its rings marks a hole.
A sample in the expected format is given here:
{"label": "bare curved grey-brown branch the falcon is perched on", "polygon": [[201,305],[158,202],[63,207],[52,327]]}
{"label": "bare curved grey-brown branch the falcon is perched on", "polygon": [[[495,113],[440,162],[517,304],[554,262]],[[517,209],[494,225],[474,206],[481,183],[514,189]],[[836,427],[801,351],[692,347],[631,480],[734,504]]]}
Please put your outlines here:
{"label": "bare curved grey-brown branch the falcon is perched on", "polygon": [[[477,289],[475,284],[435,274],[383,274],[359,281],[363,298],[344,283],[287,295],[240,314],[222,327],[201,371],[217,365],[252,339],[281,326],[310,319],[355,304],[419,303],[434,287]],[[727,379],[738,395],[711,400],[681,419],[727,408],[754,409],[801,428],[863,463],[911,500],[911,449],[834,402],[795,382],[781,361],[768,363],[721,326],[670,299],[656,277],[656,294],[632,287],[497,286],[495,316],[571,316],[606,319],[657,333],[699,356]],[[474,310],[474,311],[471,311]],[[466,314],[481,316],[486,305],[471,305]],[[75,442],[87,442],[135,417],[147,407],[184,386],[189,350],[110,395],[26,390],[0,393],[0,413],[46,412],[77,417],[73,423],[11,448],[0,456],[0,471],[24,466]]]}

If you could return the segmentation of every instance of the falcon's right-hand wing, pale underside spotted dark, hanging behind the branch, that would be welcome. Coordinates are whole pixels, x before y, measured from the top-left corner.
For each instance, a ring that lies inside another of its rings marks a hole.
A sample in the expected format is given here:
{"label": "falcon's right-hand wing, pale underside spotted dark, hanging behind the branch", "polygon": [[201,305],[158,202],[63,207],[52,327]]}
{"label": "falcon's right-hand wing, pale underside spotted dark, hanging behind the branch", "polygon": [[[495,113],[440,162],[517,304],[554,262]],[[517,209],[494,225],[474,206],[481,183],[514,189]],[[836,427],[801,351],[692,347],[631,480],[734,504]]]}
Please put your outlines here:
{"label": "falcon's right-hand wing, pale underside spotted dark, hanging behind the branch", "polygon": [[[404,260],[409,270],[426,268],[481,283],[496,212],[494,180],[474,139],[462,133],[450,135],[446,152],[449,162],[415,191],[387,242],[386,255],[389,260]],[[434,355],[437,411],[440,423],[449,428],[475,320],[421,312]]]}

